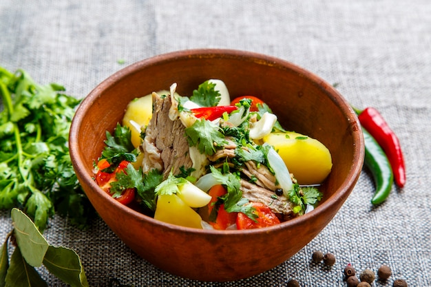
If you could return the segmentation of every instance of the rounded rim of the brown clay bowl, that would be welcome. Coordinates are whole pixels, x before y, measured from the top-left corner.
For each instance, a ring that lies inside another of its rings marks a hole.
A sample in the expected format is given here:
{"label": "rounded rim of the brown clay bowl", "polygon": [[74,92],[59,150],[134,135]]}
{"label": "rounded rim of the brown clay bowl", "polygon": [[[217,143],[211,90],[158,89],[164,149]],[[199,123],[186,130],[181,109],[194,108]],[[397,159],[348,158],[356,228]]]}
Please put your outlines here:
{"label": "rounded rim of the brown clay bowl", "polygon": [[[92,107],[94,100],[99,97],[101,90],[107,89],[112,85],[115,85],[117,81],[122,78],[125,78],[128,74],[134,73],[140,69],[145,67],[149,67],[151,65],[159,65],[162,62],[169,62],[175,59],[192,59],[192,58],[233,58],[233,59],[242,59],[245,61],[255,61],[257,63],[264,63],[266,65],[273,65],[284,70],[293,70],[298,74],[304,75],[306,78],[309,78],[313,83],[319,85],[322,89],[326,91],[326,94],[330,95],[331,100],[337,103],[341,109],[342,114],[348,118],[350,121],[350,129],[353,134],[353,142],[356,143],[354,147],[353,161],[350,166],[350,171],[348,171],[348,176],[342,183],[344,187],[341,187],[337,190],[336,193],[327,198],[322,204],[319,204],[311,213],[306,213],[299,217],[295,217],[291,220],[287,220],[286,222],[282,222],[280,224],[276,224],[274,226],[264,227],[264,228],[256,228],[256,229],[248,229],[248,230],[211,230],[211,229],[198,229],[198,228],[190,228],[185,226],[178,226],[175,224],[169,224],[166,222],[161,222],[159,220],[155,220],[153,217],[140,213],[128,206],[121,204],[114,200],[111,196],[109,196],[105,191],[103,191],[96,182],[92,179],[92,176],[88,176],[87,170],[83,167],[83,158],[81,154],[78,152],[78,143],[76,139],[78,138],[79,129],[82,124],[83,116],[85,112]],[[214,236],[235,236],[239,234],[251,235],[256,233],[271,233],[275,231],[279,231],[280,229],[291,228],[296,225],[306,224],[313,217],[319,215],[319,213],[326,213],[328,209],[331,209],[334,202],[345,201],[350,191],[353,190],[355,182],[359,178],[359,174],[361,173],[361,169],[364,162],[364,138],[361,131],[361,127],[359,124],[359,120],[357,118],[357,114],[353,111],[352,107],[348,104],[346,99],[337,92],[337,90],[324,81],[323,78],[320,78],[313,72],[310,72],[298,65],[291,63],[290,61],[286,61],[284,59],[277,58],[275,56],[269,56],[266,54],[260,54],[257,52],[250,52],[244,50],[232,50],[232,49],[215,49],[215,48],[202,48],[202,49],[190,49],[190,50],[178,50],[174,52],[167,52],[165,54],[158,54],[156,56],[151,56],[147,59],[140,60],[136,63],[132,63],[127,67],[123,67],[121,70],[118,70],[111,76],[105,78],[104,81],[99,83],[92,91],[83,98],[81,104],[76,109],[76,113],[72,120],[72,124],[70,127],[70,156],[72,159],[72,164],[76,173],[79,173],[83,176],[82,180],[92,188],[95,193],[98,193],[98,196],[102,196],[107,200],[107,204],[112,205],[114,208],[120,209],[122,213],[127,213],[132,217],[136,217],[140,222],[147,222],[152,225],[160,226],[167,230],[176,230],[184,233],[194,233],[194,234],[211,234]],[[356,164],[355,164],[356,162]],[[350,191],[349,191],[350,189]],[[332,218],[330,218],[332,220]]]}

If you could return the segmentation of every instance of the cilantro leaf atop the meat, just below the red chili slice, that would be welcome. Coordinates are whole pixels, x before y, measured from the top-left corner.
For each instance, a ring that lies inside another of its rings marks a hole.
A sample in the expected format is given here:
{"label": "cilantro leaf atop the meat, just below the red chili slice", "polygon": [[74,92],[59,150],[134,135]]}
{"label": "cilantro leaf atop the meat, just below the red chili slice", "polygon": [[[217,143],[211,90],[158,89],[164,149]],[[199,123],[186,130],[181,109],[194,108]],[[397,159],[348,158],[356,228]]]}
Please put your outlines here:
{"label": "cilantro leaf atop the meat, just below the red chili slice", "polygon": [[220,131],[220,127],[211,123],[209,120],[196,120],[193,125],[185,129],[189,146],[198,147],[200,153],[212,156],[215,147],[222,147],[226,140]]}

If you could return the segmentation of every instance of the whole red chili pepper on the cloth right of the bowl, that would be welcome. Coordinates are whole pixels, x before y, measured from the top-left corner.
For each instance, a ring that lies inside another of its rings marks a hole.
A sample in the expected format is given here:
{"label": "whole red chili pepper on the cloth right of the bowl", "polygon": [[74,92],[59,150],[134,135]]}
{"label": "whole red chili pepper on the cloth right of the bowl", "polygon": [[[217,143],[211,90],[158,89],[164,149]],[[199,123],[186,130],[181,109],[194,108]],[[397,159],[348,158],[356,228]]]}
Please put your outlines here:
{"label": "whole red chili pepper on the cloth right of the bowl", "polygon": [[367,107],[359,114],[358,118],[361,125],[377,140],[388,156],[395,183],[399,187],[404,187],[406,184],[406,167],[401,145],[394,131],[390,129],[386,120],[375,108]]}

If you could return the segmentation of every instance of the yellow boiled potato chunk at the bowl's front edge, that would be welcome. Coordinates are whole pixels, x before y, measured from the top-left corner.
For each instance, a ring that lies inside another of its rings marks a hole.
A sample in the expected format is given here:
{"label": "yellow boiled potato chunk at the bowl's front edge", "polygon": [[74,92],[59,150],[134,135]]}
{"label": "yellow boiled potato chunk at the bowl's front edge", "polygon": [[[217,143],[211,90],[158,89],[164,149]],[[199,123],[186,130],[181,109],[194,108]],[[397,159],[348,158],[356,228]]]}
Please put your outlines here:
{"label": "yellow boiled potato chunk at the bowl's front edge", "polygon": [[202,229],[202,217],[185,204],[178,195],[159,195],[154,219],[170,224]]}

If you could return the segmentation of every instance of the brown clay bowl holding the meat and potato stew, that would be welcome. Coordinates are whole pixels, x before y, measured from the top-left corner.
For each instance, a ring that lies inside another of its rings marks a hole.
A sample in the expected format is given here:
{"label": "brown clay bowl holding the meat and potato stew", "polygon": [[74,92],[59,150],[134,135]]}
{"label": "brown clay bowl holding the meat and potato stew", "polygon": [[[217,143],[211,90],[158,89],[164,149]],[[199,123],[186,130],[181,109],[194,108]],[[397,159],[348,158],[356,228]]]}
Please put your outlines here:
{"label": "brown clay bowl holding the meat and potato stew", "polygon": [[[119,204],[92,179],[105,131],[113,131],[130,100],[178,83],[190,94],[209,78],[231,98],[262,98],[286,129],[322,141],[333,170],[322,203],[311,213],[268,228],[210,231],[165,224]],[[269,270],[297,253],[333,219],[352,191],[364,160],[357,117],[322,78],[271,56],[237,50],[186,50],[145,59],[109,76],[81,103],[70,129],[70,153],[85,193],[112,231],[151,264],[202,281],[231,281]]]}

